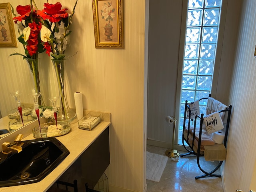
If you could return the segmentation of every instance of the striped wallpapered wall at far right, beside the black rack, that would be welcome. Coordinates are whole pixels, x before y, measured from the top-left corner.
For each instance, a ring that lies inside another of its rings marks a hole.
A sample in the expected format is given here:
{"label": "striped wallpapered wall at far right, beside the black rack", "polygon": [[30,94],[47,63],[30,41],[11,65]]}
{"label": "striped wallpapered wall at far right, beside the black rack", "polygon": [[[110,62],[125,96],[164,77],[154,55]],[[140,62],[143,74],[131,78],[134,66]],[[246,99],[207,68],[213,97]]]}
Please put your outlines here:
{"label": "striped wallpapered wall at far right, beside the black rack", "polygon": [[[255,188],[256,160],[256,1],[244,0],[238,47],[235,55],[234,72],[230,93],[233,105],[225,162],[224,183],[226,192]],[[251,187],[249,188],[250,185]]]}

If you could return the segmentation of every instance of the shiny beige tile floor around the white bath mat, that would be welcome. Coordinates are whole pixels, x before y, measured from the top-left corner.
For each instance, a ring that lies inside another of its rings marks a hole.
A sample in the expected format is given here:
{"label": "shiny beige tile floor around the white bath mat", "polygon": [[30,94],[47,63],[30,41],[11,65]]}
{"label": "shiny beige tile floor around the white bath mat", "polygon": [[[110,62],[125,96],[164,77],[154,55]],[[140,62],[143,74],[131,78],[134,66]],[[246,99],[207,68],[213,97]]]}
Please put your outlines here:
{"label": "shiny beige tile floor around the white bath mat", "polygon": [[[147,146],[150,153],[165,155],[166,148]],[[179,151],[180,154],[186,153]],[[201,164],[202,159],[202,164]],[[214,168],[218,162],[206,162],[204,157],[200,158],[201,166]],[[212,170],[212,169],[211,169]],[[220,170],[215,172],[220,174]],[[195,179],[203,173],[197,166],[195,156],[180,157],[178,162],[168,158],[166,167],[159,182],[146,180],[147,192],[223,192],[222,180],[217,177]]]}

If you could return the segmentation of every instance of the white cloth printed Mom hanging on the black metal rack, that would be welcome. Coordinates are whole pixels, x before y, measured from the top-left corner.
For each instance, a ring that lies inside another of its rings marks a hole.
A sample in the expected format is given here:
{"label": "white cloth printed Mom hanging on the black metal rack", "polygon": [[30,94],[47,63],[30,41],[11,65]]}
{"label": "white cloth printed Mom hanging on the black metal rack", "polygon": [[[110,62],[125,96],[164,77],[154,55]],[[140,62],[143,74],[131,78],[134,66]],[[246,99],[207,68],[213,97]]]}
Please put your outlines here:
{"label": "white cloth printed Mom hanging on the black metal rack", "polygon": [[219,112],[214,112],[204,117],[204,123],[208,134],[224,128]]}

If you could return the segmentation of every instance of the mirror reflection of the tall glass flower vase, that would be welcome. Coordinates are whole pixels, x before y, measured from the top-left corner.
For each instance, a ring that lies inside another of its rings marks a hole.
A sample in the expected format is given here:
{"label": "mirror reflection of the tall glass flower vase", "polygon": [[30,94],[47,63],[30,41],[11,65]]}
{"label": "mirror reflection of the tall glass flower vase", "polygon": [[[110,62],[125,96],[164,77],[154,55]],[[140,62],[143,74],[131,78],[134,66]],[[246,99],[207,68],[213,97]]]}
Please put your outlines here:
{"label": "mirror reflection of the tall glass flower vase", "polygon": [[[36,58],[36,59],[27,58],[26,62],[28,63],[28,66],[29,66],[30,71],[32,73],[35,92],[41,92],[41,90],[40,90],[40,78],[39,78],[39,72],[38,72],[38,64],[40,62],[40,58]],[[44,101],[43,101],[42,95],[40,95],[40,97],[38,98],[38,104],[40,106],[44,106]]]}

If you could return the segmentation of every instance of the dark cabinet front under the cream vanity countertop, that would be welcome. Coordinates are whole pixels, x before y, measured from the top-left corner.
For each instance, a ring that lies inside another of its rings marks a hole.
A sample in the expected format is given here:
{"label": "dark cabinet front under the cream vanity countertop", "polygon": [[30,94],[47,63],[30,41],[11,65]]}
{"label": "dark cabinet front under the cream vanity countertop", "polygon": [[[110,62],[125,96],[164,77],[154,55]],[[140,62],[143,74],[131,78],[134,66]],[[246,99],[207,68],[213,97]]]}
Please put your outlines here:
{"label": "dark cabinet front under the cream vanity countertop", "polygon": [[[86,140],[86,138],[84,138],[84,140]],[[88,184],[88,188],[93,189],[109,164],[109,127],[107,127],[70,168],[60,176],[58,181],[72,184],[73,181],[76,180],[78,191],[86,192],[86,183]],[[56,192],[60,189],[65,189],[65,187],[57,186],[56,183],[54,183],[47,192]],[[70,189],[70,187],[68,187],[68,189]]]}

